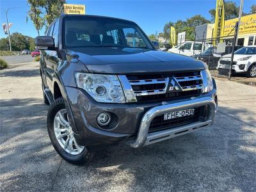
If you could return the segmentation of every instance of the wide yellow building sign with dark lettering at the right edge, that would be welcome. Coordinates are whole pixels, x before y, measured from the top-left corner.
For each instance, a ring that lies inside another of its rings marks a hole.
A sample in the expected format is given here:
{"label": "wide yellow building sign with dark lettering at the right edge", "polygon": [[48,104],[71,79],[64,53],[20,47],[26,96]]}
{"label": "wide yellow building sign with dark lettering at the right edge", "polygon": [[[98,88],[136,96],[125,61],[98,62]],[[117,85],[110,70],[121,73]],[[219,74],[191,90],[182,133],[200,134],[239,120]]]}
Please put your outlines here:
{"label": "wide yellow building sign with dark lettering at the right edge", "polygon": [[[234,35],[235,33],[234,28],[236,26],[237,21],[238,21],[238,18],[225,20],[224,36]],[[256,33],[256,13],[241,17],[238,33],[239,35]]]}

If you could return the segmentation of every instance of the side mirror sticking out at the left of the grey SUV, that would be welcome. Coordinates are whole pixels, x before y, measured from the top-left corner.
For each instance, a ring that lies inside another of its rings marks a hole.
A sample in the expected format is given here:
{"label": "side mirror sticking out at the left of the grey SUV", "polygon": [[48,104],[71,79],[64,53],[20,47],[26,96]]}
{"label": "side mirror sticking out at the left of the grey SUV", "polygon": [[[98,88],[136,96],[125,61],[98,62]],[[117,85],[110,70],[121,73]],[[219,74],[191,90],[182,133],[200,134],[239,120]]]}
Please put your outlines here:
{"label": "side mirror sticking out at the left of the grey SUV", "polygon": [[36,49],[39,50],[56,50],[54,40],[51,36],[36,36],[35,45]]}

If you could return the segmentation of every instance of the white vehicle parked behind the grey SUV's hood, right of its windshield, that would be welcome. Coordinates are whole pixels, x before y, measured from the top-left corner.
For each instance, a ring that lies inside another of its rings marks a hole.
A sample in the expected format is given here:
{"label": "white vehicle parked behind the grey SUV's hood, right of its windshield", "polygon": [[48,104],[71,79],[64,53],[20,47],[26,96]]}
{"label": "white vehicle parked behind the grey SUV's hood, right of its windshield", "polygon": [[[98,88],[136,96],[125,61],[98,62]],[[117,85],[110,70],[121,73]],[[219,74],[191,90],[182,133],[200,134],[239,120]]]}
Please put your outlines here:
{"label": "white vehicle parked behind the grey SUV's hood, right of its windshield", "polygon": [[168,49],[168,52],[193,56],[194,54],[200,54],[200,52],[202,52],[202,47],[202,42],[184,42],[179,46]]}

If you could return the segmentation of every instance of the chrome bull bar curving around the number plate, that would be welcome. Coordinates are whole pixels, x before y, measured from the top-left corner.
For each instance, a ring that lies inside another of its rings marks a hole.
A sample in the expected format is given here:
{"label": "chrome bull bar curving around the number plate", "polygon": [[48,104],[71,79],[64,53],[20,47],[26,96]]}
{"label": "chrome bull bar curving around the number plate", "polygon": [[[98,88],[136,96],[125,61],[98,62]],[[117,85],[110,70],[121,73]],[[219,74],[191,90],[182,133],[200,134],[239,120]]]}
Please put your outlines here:
{"label": "chrome bull bar curving around the number plate", "polygon": [[[163,115],[164,113],[171,113],[173,111],[179,111],[181,109],[196,108],[196,107],[206,106],[206,105],[209,106],[209,113],[207,114],[207,120],[205,122],[195,122],[193,124],[184,125],[181,127],[177,127],[177,128],[173,128],[165,131],[148,133],[148,128],[150,126],[150,123],[156,116]],[[202,129],[204,127],[209,127],[214,122],[215,113],[216,113],[216,102],[211,97],[202,97],[202,98],[191,97],[191,99],[183,102],[177,102],[173,104],[163,104],[162,106],[156,106],[152,109],[149,109],[147,113],[145,113],[140,123],[138,136],[136,140],[129,141],[129,145],[131,147],[138,148],[144,145],[149,145],[159,141],[168,140],[170,138],[174,138],[182,134],[187,134],[189,132]]]}

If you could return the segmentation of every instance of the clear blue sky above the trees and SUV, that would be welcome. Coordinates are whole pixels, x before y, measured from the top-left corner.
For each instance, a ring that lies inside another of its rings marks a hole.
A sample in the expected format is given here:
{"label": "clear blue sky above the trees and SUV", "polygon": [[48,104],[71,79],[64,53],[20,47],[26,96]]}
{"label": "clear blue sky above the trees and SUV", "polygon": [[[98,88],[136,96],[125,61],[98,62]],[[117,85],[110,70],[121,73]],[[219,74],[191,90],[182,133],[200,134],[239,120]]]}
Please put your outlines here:
{"label": "clear blue sky above the trees and SUV", "polygon": [[[211,20],[209,10],[216,7],[216,0],[166,0],[166,1],[146,1],[146,0],[116,0],[116,1],[74,1],[66,0],[70,4],[85,4],[86,14],[103,15],[133,20],[147,35],[163,32],[166,22],[186,20],[194,15],[202,15]],[[233,0],[240,4],[239,0]],[[250,6],[256,0],[244,1],[244,12],[250,11]],[[12,8],[14,7],[14,8]],[[5,10],[8,11],[8,22],[12,22],[10,33],[19,32],[23,35],[35,37],[37,31],[30,19],[26,22],[29,5],[26,0],[0,0],[0,22],[6,22]],[[40,31],[44,35],[45,29]],[[0,29],[0,38],[6,37],[3,28]]]}

